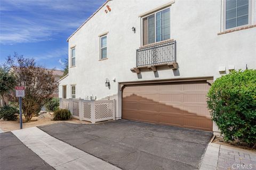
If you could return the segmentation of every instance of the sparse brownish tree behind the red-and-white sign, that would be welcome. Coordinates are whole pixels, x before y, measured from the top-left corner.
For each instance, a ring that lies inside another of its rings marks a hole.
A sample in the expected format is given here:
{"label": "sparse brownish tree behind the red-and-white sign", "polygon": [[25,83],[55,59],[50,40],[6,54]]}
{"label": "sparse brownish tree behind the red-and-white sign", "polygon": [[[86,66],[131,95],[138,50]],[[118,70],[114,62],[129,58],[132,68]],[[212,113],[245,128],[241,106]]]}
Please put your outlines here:
{"label": "sparse brownish tree behind the red-and-white sign", "polygon": [[[22,111],[29,122],[33,115],[39,113],[44,103],[52,97],[58,88],[51,70],[36,65],[33,58],[25,58],[14,53],[8,56],[6,64],[11,67],[11,72],[17,80],[18,86],[25,86],[25,97],[22,99]],[[11,101],[18,105],[15,91],[10,95]]]}

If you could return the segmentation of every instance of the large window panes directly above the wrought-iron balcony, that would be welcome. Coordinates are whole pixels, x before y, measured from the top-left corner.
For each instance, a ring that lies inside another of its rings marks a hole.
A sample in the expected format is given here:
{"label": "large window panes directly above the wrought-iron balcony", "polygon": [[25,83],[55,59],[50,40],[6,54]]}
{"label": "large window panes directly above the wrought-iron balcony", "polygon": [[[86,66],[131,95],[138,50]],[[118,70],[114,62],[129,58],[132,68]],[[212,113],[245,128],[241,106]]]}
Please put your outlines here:
{"label": "large window panes directly above the wrought-iron balcony", "polygon": [[143,45],[170,39],[170,8],[142,19]]}

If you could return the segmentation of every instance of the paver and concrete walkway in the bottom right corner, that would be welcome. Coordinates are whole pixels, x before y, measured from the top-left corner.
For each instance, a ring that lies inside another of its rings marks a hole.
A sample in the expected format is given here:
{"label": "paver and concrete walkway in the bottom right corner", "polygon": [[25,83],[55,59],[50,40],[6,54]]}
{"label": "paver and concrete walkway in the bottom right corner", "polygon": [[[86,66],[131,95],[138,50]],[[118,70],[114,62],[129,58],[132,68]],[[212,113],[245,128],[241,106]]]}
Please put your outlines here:
{"label": "paver and concrete walkway in the bottom right corner", "polygon": [[256,169],[256,152],[209,143],[199,169]]}

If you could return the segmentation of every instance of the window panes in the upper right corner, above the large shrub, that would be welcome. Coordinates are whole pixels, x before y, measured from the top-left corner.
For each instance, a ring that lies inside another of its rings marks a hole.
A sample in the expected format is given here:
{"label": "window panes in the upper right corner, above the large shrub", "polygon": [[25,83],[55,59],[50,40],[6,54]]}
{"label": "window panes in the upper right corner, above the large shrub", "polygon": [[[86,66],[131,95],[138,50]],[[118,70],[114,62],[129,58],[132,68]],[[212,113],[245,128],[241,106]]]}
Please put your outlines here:
{"label": "window panes in the upper right corner, above the large shrub", "polygon": [[225,1],[225,29],[249,24],[249,0]]}

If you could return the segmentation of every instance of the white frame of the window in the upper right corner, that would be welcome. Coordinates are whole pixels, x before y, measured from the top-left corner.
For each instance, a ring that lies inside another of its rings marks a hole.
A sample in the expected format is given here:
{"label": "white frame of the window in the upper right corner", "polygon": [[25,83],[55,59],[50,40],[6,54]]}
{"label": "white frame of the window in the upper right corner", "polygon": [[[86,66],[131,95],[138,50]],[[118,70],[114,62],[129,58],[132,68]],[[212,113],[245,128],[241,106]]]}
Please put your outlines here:
{"label": "white frame of the window in the upper right corner", "polygon": [[248,10],[248,24],[246,25],[241,25],[241,26],[238,26],[238,27],[233,27],[233,28],[229,28],[229,29],[226,29],[226,1],[227,0],[222,0],[222,30],[221,31],[228,31],[228,30],[234,30],[234,29],[237,29],[237,28],[242,28],[242,27],[246,27],[246,26],[249,26],[253,23],[253,7],[254,7],[254,0],[249,0],[249,10]]}

